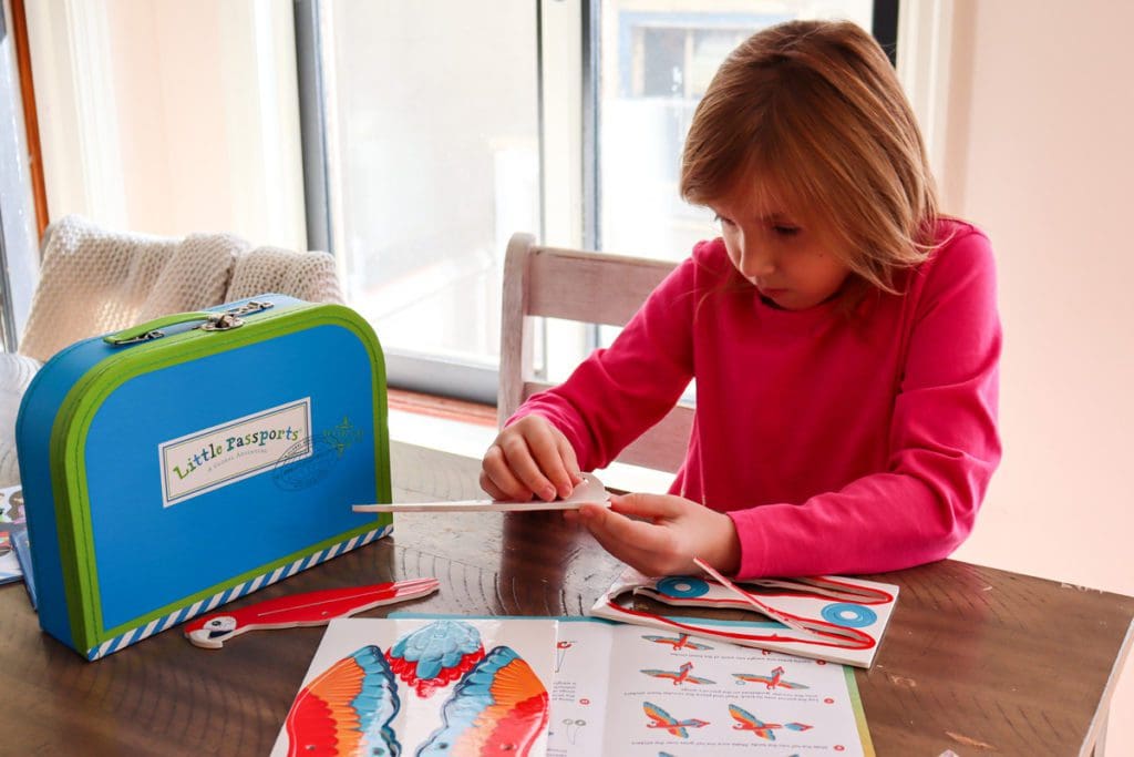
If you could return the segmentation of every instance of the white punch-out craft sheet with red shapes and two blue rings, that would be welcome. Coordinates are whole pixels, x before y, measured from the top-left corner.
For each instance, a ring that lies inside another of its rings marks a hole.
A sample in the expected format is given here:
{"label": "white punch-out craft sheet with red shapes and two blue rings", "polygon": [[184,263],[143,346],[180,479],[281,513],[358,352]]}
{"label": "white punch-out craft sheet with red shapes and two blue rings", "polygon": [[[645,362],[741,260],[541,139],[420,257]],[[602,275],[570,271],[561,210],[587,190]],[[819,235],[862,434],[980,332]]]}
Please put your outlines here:
{"label": "white punch-out craft sheet with red shapes and two blue rings", "polygon": [[[898,598],[898,587],[862,579],[818,575],[730,581],[696,561],[710,579],[649,578],[627,570],[599,597],[590,614],[676,633],[722,639],[745,647],[870,667]],[[646,597],[672,607],[738,609],[753,621],[662,615],[633,606]]]}

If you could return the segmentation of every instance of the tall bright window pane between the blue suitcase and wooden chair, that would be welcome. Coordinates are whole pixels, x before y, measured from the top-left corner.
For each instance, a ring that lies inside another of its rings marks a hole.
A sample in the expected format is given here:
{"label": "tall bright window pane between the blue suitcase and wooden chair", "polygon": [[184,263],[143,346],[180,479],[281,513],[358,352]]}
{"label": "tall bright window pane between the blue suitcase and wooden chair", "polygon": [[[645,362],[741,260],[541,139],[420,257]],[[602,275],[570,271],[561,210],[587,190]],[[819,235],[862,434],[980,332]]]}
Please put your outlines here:
{"label": "tall bright window pane between the blue suitcase and wooden chair", "polygon": [[387,351],[494,365],[505,246],[539,232],[535,8],[324,8],[331,217],[349,303]]}

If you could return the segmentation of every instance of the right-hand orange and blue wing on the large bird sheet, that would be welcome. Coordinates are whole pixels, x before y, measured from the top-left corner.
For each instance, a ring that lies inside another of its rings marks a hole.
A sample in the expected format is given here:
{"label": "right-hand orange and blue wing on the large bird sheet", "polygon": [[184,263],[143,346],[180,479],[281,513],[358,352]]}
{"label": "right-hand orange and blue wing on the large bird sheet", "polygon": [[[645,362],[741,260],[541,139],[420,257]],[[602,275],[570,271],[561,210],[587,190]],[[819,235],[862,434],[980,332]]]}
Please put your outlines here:
{"label": "right-hand orange and blue wing on the large bird sheet", "polygon": [[417,757],[527,755],[548,723],[548,690],[510,647],[496,647],[454,688],[445,725]]}

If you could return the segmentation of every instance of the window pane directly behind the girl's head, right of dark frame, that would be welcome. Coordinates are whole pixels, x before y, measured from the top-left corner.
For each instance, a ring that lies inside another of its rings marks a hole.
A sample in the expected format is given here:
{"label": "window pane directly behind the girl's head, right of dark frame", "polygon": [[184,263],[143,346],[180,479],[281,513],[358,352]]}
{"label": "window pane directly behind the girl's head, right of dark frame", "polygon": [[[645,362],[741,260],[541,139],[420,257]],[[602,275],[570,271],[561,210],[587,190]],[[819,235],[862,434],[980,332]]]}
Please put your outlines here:
{"label": "window pane directly behind the girl's head, right of dark frame", "polygon": [[599,241],[603,250],[680,260],[716,236],[712,215],[677,194],[689,120],[717,67],[754,32],[792,18],[870,28],[870,0],[607,0],[599,81]]}

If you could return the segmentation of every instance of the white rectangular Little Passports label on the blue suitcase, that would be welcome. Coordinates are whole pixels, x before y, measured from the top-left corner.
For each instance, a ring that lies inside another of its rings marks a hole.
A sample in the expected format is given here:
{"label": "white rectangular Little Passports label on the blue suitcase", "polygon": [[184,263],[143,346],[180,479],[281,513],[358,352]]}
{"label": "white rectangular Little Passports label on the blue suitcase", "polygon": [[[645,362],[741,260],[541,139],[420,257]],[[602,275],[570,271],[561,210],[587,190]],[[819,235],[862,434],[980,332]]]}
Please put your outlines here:
{"label": "white rectangular Little Passports label on the blue suitcase", "polygon": [[[306,440],[306,451],[299,443]],[[158,445],[162,505],[310,457],[311,397]]]}

